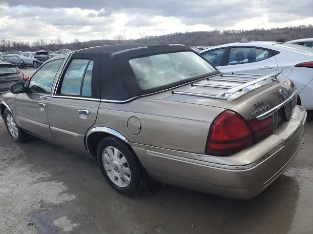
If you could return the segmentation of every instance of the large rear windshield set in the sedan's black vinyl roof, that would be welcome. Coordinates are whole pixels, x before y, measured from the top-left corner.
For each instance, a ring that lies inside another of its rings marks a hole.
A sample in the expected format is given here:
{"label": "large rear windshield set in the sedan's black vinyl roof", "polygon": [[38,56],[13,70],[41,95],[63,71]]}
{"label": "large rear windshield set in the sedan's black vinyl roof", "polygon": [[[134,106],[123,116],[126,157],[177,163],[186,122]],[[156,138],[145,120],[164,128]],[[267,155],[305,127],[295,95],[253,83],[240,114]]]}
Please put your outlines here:
{"label": "large rear windshield set in the sedan's black vinyl roof", "polygon": [[190,51],[130,59],[129,63],[143,90],[192,81],[216,71],[211,64]]}

